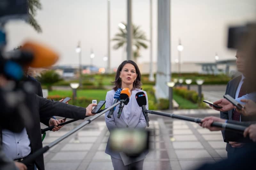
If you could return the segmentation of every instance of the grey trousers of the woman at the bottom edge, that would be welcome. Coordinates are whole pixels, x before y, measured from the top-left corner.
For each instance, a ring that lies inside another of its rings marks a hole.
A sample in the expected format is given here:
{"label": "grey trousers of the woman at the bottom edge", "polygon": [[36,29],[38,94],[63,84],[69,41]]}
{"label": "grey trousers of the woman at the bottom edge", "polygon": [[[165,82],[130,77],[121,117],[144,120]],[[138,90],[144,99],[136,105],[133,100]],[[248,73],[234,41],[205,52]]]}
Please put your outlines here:
{"label": "grey trousers of the woman at the bottom edge", "polygon": [[142,170],[143,169],[144,159],[126,166],[124,165],[123,161],[120,159],[116,159],[111,156],[111,160],[112,160],[112,165],[114,167],[114,170]]}

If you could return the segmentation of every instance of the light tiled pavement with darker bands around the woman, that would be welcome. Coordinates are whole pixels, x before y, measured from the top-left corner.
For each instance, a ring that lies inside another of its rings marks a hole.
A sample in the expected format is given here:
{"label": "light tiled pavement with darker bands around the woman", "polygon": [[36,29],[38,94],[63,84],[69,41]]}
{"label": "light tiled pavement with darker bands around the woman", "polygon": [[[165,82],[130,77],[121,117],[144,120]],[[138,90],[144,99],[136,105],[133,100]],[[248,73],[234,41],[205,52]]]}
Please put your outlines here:
{"label": "light tiled pavement with darker bands around the woman", "polygon": [[[144,161],[145,170],[193,169],[204,162],[221,160],[227,155],[220,131],[211,132],[196,123],[166,117],[149,118],[151,149]],[[81,122],[66,125],[59,132],[47,132],[43,144],[56,140]],[[108,136],[104,117],[101,116],[46,152],[45,169],[113,169],[110,156],[104,152]]]}

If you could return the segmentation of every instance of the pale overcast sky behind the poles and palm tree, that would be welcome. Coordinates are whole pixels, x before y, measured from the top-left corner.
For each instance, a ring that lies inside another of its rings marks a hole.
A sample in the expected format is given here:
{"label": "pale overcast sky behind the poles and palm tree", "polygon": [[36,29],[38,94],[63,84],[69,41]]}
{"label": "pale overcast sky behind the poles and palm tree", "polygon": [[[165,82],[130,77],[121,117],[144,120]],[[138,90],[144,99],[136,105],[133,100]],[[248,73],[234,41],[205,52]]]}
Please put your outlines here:
{"label": "pale overcast sky behind the poles and palm tree", "polygon": [[[153,1],[153,59],[157,58],[157,0]],[[126,22],[126,0],[111,2],[111,38],[118,32],[118,23]],[[37,33],[23,21],[6,25],[10,50],[26,39],[48,44],[60,54],[58,65],[77,65],[77,42],[82,43],[82,64],[106,66],[107,55],[107,0],[41,0],[43,9],[36,20],[43,33]],[[132,22],[141,26],[149,37],[149,0],[132,1]],[[184,46],[182,62],[211,62],[215,53],[220,60],[235,56],[226,48],[229,25],[255,21],[255,0],[171,0],[171,61],[177,59],[178,39]],[[114,50],[111,42],[111,67],[122,62],[124,50]],[[149,46],[149,43],[148,43]],[[149,62],[149,48],[141,50],[138,62]]]}

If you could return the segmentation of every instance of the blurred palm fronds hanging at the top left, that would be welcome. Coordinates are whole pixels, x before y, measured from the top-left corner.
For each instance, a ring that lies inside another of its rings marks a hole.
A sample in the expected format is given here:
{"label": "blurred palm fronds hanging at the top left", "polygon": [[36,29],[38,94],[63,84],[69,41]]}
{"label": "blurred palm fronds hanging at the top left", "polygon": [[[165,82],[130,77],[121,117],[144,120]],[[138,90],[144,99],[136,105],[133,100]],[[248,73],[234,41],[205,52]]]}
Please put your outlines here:
{"label": "blurred palm fronds hanging at the top left", "polygon": [[36,10],[41,10],[42,5],[39,0],[28,0],[28,23],[38,32],[41,33],[41,26],[37,23],[36,19]]}

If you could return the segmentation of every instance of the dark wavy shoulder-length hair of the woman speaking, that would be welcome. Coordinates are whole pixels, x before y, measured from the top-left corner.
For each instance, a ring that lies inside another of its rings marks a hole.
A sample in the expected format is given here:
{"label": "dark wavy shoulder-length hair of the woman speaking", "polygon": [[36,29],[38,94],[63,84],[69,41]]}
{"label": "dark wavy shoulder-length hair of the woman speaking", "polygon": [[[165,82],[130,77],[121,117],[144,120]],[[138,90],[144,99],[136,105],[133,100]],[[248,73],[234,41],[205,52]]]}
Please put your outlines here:
{"label": "dark wavy shoulder-length hair of the woman speaking", "polygon": [[136,81],[133,82],[133,89],[135,89],[135,88],[142,89],[141,88],[142,83],[141,83],[140,69],[139,69],[138,65],[134,61],[132,61],[132,60],[125,60],[125,61],[123,61],[123,63],[121,63],[118,66],[118,69],[116,71],[115,81],[112,82],[112,83],[115,83],[115,87],[113,88],[115,91],[118,88],[121,88],[122,82],[120,81],[119,75],[120,75],[120,71],[123,69],[124,65],[127,64],[127,63],[132,64],[134,66],[134,68],[135,68],[136,73],[137,73],[137,78],[135,79]]}

